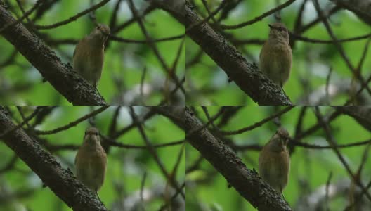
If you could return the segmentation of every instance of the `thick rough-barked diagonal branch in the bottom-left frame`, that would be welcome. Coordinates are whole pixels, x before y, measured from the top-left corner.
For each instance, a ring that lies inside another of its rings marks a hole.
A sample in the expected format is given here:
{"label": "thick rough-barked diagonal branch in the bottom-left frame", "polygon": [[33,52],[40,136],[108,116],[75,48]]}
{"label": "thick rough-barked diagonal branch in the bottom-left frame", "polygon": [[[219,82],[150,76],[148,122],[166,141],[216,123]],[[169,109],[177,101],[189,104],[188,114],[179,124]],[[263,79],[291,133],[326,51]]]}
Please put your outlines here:
{"label": "thick rough-barked diagonal branch in the bottom-left frame", "polygon": [[[6,115],[6,110],[0,107],[0,133],[13,127],[15,124]],[[95,193],[77,181],[69,169],[63,169],[56,158],[45,151],[23,129],[6,134],[2,140],[73,210],[107,210],[96,198]]]}

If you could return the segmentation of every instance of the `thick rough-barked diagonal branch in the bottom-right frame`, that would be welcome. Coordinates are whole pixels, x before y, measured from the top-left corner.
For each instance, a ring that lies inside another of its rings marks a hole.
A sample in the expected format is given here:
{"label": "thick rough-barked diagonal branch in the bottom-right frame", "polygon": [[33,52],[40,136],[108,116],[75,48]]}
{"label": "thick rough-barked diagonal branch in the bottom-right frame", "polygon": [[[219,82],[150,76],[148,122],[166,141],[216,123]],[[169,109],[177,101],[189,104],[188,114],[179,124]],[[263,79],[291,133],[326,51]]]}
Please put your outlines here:
{"label": "thick rough-barked diagonal branch in the bottom-right frame", "polygon": [[189,135],[191,130],[202,127],[202,124],[188,107],[185,122],[181,125],[185,125],[183,129],[186,130],[187,141],[254,207],[260,211],[291,210],[285,200],[282,200],[255,170],[247,169],[240,158],[208,129],[201,129]]}

